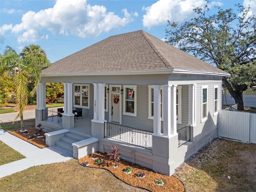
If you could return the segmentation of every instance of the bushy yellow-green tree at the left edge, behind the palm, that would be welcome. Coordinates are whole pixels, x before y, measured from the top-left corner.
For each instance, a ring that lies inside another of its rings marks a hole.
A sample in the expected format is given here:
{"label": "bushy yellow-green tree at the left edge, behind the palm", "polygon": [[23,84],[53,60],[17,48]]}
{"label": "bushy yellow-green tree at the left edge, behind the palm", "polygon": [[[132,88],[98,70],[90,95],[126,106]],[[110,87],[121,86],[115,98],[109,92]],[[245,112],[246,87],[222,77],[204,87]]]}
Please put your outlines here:
{"label": "bushy yellow-green tree at the left edge, behind the palm", "polygon": [[15,98],[15,84],[8,73],[0,75],[0,106],[5,106],[8,101]]}

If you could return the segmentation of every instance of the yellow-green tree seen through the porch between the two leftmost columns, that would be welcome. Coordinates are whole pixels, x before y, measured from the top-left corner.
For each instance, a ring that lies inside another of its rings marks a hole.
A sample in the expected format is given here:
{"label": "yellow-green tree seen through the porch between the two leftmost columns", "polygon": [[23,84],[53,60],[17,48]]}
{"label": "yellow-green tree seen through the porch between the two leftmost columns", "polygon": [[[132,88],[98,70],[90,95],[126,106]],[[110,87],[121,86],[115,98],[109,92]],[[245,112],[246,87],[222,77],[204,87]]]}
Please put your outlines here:
{"label": "yellow-green tree seen through the porch between the two leftmost columns", "polygon": [[46,83],[46,99],[51,100],[56,98],[57,94],[64,93],[63,83]]}

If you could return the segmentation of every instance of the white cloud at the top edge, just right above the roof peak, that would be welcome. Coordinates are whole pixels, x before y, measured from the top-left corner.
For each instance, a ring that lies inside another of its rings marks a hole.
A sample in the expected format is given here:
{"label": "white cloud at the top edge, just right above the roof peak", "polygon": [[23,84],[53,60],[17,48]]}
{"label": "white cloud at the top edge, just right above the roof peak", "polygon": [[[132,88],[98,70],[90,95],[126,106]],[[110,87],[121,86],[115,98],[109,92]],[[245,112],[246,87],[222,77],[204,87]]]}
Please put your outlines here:
{"label": "white cloud at the top edge, just right above the roof peak", "polygon": [[[170,21],[186,21],[195,15],[193,8],[204,6],[206,0],[158,0],[150,7],[143,7],[142,10],[146,11],[143,16],[143,26],[151,28],[167,24]],[[210,5],[217,4],[210,2]],[[221,5],[220,3],[218,3]]]}

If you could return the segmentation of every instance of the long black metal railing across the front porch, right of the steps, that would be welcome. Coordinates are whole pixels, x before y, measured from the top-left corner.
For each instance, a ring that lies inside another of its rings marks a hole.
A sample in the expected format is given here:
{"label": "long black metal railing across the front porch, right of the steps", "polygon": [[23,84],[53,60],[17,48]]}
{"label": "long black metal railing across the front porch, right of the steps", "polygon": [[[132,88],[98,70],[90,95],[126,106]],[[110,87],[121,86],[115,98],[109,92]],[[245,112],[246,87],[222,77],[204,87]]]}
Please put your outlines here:
{"label": "long black metal railing across the front porch, right of the steps", "polygon": [[152,133],[150,131],[105,122],[105,137],[152,149]]}

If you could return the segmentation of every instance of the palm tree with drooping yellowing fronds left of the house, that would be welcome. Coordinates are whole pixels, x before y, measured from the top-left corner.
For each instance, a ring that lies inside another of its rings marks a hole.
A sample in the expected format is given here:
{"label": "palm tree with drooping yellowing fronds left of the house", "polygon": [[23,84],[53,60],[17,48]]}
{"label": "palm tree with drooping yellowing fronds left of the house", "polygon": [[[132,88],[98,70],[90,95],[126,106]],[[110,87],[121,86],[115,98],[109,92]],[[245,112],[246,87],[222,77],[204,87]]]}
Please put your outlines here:
{"label": "palm tree with drooping yellowing fronds left of the house", "polygon": [[[35,47],[37,49],[35,49]],[[4,54],[0,56],[0,74],[15,70],[14,83],[16,84],[16,103],[20,108],[20,112],[15,117],[14,121],[20,117],[22,130],[24,130],[23,111],[28,104],[28,84],[30,77],[33,77],[34,81],[32,94],[35,94],[36,88],[40,82],[41,70],[50,66],[50,61],[47,59],[46,54],[40,46],[31,45],[31,49],[29,48],[25,47],[21,54],[17,54],[13,48],[7,46]],[[32,54],[30,50],[36,51],[36,54]],[[40,52],[44,54],[39,54]]]}

